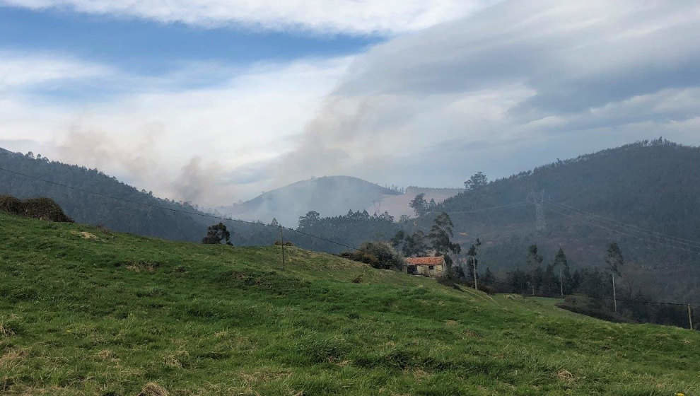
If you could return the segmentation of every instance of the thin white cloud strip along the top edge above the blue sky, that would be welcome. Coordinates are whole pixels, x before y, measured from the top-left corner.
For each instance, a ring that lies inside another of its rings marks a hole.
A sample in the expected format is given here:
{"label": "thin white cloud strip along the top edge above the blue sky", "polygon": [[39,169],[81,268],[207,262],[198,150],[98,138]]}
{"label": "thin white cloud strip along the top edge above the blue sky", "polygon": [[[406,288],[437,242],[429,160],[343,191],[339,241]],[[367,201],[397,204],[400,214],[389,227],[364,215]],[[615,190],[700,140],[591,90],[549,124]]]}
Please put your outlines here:
{"label": "thin white cloud strip along the top edge above the blue sky", "polygon": [[32,9],[272,30],[399,33],[465,16],[495,0],[0,0]]}

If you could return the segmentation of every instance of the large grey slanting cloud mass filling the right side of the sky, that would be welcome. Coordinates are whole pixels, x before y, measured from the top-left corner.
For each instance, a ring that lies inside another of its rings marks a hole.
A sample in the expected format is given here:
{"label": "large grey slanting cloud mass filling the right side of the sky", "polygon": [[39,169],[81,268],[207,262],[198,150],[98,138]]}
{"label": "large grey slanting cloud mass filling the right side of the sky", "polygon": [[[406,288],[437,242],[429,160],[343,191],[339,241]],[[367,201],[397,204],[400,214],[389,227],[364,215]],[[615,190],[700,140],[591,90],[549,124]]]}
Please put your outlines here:
{"label": "large grey slanting cloud mass filling the right side of the sky", "polygon": [[700,116],[699,26],[696,1],[508,1],[397,37],[356,59],[281,168],[455,186],[659,135],[700,144],[683,122]]}

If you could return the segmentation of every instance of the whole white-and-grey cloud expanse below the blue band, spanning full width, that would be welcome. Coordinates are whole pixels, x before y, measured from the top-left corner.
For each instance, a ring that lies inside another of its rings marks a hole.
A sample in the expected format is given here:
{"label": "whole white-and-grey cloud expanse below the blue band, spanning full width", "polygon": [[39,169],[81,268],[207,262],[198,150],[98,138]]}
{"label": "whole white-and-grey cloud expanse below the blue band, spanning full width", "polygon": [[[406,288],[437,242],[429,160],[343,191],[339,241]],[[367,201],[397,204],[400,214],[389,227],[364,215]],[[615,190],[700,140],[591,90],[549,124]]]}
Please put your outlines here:
{"label": "whole white-and-grey cloud expanse below the blue band, spanning full width", "polygon": [[[0,138],[167,197],[200,186],[204,204],[313,175],[460,186],[637,139],[700,144],[699,22],[695,1],[510,1],[353,59],[119,75],[137,88],[90,104],[16,93]],[[198,76],[221,81],[177,88]]]}

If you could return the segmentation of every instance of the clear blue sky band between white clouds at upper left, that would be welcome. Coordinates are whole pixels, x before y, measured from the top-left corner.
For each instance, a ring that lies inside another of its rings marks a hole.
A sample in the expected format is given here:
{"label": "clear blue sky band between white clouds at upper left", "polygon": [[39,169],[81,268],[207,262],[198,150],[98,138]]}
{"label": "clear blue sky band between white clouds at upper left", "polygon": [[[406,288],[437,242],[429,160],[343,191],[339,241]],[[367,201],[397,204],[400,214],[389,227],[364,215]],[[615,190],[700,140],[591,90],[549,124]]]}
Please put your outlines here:
{"label": "clear blue sky band between white clouds at upper left", "polygon": [[321,34],[246,26],[162,23],[130,16],[91,15],[64,8],[0,6],[0,47],[19,52],[59,52],[157,76],[182,62],[290,62],[337,57],[385,40],[380,33]]}

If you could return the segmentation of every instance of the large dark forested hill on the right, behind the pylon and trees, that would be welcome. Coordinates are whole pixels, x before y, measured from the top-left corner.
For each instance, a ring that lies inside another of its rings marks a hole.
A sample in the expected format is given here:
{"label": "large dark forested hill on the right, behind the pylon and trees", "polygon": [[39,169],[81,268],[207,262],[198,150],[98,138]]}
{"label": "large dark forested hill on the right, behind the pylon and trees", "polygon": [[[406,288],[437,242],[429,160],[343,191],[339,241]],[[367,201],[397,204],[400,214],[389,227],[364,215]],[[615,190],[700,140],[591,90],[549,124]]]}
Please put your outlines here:
{"label": "large dark forested hill on the right, behind the pylon and trees", "polygon": [[446,199],[417,226],[428,229],[440,211],[463,247],[481,238],[481,263],[491,269],[524,266],[533,243],[546,261],[561,247],[574,264],[602,266],[606,244],[617,242],[637,286],[700,297],[691,281],[700,279],[697,147],[659,139],[557,161]]}

